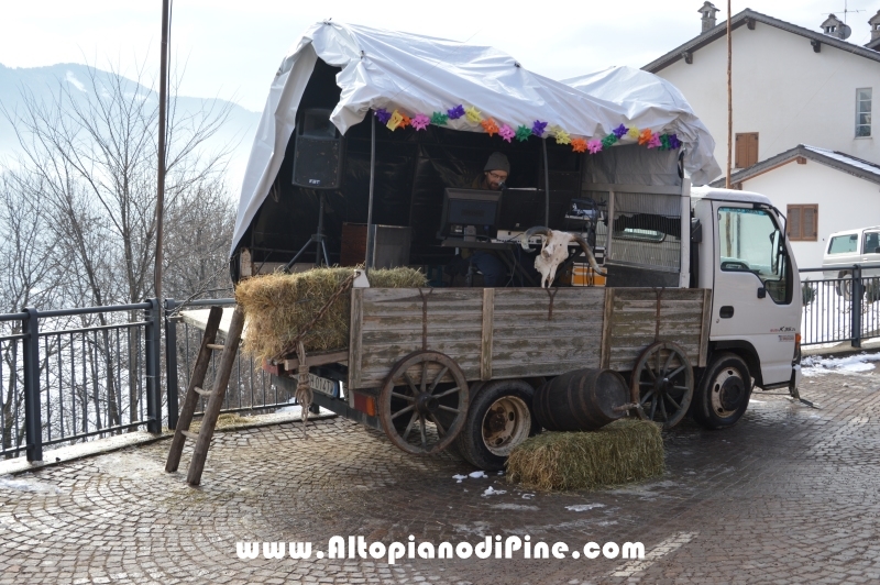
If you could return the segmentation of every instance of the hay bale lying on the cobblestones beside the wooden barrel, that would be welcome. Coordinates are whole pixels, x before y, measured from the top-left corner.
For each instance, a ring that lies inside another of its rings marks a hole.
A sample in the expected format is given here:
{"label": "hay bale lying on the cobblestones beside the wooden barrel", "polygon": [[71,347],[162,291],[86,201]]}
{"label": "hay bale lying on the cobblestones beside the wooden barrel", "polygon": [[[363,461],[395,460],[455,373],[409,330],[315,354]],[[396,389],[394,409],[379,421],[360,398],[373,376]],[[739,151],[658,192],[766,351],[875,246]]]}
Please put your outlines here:
{"label": "hay bale lying on the cobblestones beside the wooden barrel", "polygon": [[544,432],[518,445],[507,479],[529,489],[596,489],[663,473],[660,427],[622,419],[597,431]]}

